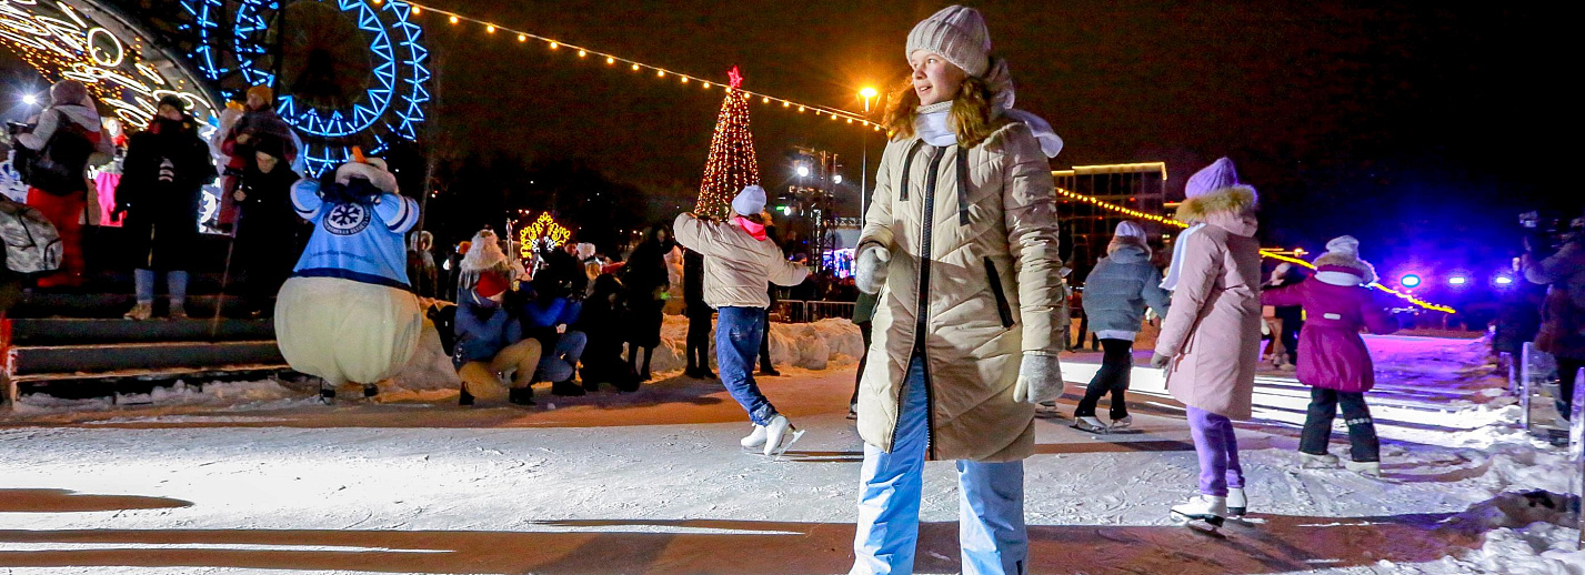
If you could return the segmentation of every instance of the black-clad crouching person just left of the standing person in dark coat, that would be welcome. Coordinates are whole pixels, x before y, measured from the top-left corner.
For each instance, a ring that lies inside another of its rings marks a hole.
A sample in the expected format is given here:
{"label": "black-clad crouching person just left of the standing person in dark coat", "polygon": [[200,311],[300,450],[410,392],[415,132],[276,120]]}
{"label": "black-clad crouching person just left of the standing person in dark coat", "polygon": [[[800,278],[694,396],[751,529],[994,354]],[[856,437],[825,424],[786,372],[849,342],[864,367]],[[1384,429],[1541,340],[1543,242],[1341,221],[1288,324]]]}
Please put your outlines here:
{"label": "black-clad crouching person just left of the standing person in dark coat", "polygon": [[639,374],[621,361],[621,344],[628,331],[626,298],[621,280],[612,274],[594,277],[594,291],[583,301],[575,331],[588,337],[583,347],[580,374],[583,390],[598,391],[601,383],[610,383],[617,391],[637,391]]}

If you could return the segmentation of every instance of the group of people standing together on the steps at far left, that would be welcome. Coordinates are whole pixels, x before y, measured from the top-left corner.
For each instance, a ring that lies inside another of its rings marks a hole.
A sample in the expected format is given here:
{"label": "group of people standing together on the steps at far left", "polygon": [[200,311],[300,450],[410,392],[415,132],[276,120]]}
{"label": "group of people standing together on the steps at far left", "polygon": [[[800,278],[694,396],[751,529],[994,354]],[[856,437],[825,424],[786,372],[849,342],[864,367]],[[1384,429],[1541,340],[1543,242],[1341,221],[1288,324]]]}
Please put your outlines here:
{"label": "group of people standing together on the steps at far left", "polygon": [[[168,315],[185,317],[190,271],[214,268],[198,260],[204,255],[197,239],[203,188],[220,177],[214,223],[233,236],[231,258],[247,261],[235,269],[246,299],[241,315],[269,312],[269,301],[301,253],[307,227],[287,200],[301,177],[295,165],[303,144],[276,116],[268,87],[247,90],[244,103],[223,111],[219,130],[208,139],[200,135],[190,103],[176,95],[160,98],[141,127],[101,117],[87,86],[74,79],[51,86],[49,97],[36,116],[8,130],[13,166],[27,185],[25,204],[49,222],[59,239],[38,246],[52,266],[29,269],[32,287],[81,288],[86,225],[119,225],[119,241],[106,242],[106,253],[95,258],[133,276],[135,304],[125,317],[151,318],[162,280]],[[8,257],[30,253],[16,250]]]}

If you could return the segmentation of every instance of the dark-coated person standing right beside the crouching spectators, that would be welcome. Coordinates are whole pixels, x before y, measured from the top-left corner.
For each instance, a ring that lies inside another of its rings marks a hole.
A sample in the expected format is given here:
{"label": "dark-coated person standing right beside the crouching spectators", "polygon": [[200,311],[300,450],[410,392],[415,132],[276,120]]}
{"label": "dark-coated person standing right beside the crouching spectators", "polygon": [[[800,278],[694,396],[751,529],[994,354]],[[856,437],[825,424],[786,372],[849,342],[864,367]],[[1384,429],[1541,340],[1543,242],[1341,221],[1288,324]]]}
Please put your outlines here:
{"label": "dark-coated person standing right beside the crouching spectators", "polygon": [[[648,230],[644,242],[632,249],[623,266],[623,284],[628,287],[628,363],[648,382],[650,358],[661,345],[661,322],[666,309],[666,291],[672,288],[666,269],[666,252],[672,250],[672,236],[666,227]],[[639,366],[639,348],[644,348],[644,364]]]}

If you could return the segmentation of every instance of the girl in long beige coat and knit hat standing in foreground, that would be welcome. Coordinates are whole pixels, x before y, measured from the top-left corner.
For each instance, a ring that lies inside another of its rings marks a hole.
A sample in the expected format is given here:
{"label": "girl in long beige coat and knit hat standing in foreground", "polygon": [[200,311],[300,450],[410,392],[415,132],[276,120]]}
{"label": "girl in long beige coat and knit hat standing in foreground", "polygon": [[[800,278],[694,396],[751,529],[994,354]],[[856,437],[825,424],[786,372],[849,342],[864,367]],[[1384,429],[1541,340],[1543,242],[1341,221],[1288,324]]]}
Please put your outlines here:
{"label": "girl in long beige coat and knit hat standing in foreground", "polygon": [[1022,573],[1024,458],[1035,404],[1062,394],[1067,322],[1045,120],[1013,105],[978,11],[915,25],[910,84],[892,95],[857,244],[857,287],[880,293],[859,383],[853,573],[908,573],[926,459],[957,459],[964,573]]}

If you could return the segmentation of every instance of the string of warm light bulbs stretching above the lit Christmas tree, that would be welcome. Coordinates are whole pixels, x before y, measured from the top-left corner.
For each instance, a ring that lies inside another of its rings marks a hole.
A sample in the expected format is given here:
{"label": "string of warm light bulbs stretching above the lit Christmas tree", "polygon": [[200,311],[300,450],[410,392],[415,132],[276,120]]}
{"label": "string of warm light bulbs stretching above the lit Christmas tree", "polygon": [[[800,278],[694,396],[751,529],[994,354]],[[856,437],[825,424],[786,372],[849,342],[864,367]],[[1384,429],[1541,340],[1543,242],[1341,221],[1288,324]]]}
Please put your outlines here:
{"label": "string of warm light bulbs stretching above the lit Christmas tree", "polygon": [[526,44],[529,41],[540,43],[540,44],[544,44],[550,51],[577,52],[579,59],[591,59],[593,57],[596,60],[605,60],[607,67],[618,67],[618,65],[620,67],[626,67],[628,70],[631,70],[634,73],[653,74],[653,78],[656,78],[656,79],[675,79],[678,84],[701,86],[704,90],[721,89],[721,90],[726,90],[726,92],[737,92],[737,93],[742,93],[743,100],[747,100],[747,101],[756,101],[758,100],[761,105],[770,105],[770,106],[781,105],[780,108],[788,109],[788,111],[794,111],[796,109],[800,114],[802,112],[815,112],[815,117],[829,117],[832,122],[842,120],[845,124],[851,124],[851,125],[856,125],[856,127],[872,128],[875,131],[881,130],[880,124],[870,122],[864,114],[859,114],[859,112],[851,112],[851,111],[840,109],[840,108],[831,108],[831,106],[819,106],[819,105],[812,105],[812,103],[794,101],[794,100],[788,100],[788,98],[781,98],[781,97],[773,97],[773,95],[769,95],[769,93],[764,93],[764,92],[745,90],[742,87],[735,87],[734,89],[732,86],[729,86],[726,82],[718,82],[718,81],[705,79],[705,78],[694,76],[694,74],[685,74],[685,73],[675,71],[672,68],[666,68],[666,67],[658,67],[658,65],[653,65],[653,63],[639,62],[639,60],[621,57],[621,55],[610,54],[610,52],[601,52],[601,51],[591,49],[588,46],[567,44],[567,43],[555,40],[555,38],[542,36],[542,35],[537,35],[537,33],[533,33],[533,32],[526,32],[526,30],[518,30],[518,29],[506,27],[506,25],[501,25],[501,24],[496,24],[496,22],[483,21],[483,19],[472,17],[472,16],[468,16],[468,14],[461,14],[461,13],[456,13],[456,11],[434,8],[434,6],[423,5],[423,3],[399,2],[399,0],[369,0],[369,2],[372,2],[374,5],[380,5],[384,2],[391,2],[391,3],[399,5],[399,6],[407,6],[409,14],[414,16],[414,17],[422,16],[422,14],[434,13],[434,14],[444,16],[447,19],[447,22],[452,24],[452,25],[458,25],[458,24],[463,24],[463,22],[474,24],[474,25],[482,25],[485,29],[485,33],[490,33],[490,35],[507,35],[507,36],[517,35],[517,41],[520,44]]}

